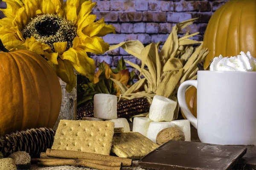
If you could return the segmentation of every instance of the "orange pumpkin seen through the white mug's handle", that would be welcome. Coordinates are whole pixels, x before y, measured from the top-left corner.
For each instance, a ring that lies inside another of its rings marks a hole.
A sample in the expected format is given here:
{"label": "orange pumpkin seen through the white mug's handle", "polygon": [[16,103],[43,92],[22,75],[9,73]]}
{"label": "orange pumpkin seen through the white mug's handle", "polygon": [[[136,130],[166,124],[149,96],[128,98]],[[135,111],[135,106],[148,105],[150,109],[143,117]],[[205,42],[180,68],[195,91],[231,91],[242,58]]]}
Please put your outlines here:
{"label": "orange pumpkin seen through the white mug's handle", "polygon": [[[196,88],[194,86],[190,86],[185,92],[186,104],[188,105],[189,111],[197,117],[197,94]],[[182,116],[186,119],[186,116],[181,111]]]}

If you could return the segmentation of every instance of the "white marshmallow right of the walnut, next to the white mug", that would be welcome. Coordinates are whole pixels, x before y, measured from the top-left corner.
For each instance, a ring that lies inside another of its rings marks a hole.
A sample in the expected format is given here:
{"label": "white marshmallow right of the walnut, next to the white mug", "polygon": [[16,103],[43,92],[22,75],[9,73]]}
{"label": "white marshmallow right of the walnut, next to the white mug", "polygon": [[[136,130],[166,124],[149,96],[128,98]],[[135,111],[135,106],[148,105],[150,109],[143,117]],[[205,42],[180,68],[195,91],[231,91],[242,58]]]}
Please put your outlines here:
{"label": "white marshmallow right of the walnut, next to the white mug", "polygon": [[180,128],[185,134],[185,141],[191,141],[190,122],[189,120],[174,120],[172,123],[175,127]]}

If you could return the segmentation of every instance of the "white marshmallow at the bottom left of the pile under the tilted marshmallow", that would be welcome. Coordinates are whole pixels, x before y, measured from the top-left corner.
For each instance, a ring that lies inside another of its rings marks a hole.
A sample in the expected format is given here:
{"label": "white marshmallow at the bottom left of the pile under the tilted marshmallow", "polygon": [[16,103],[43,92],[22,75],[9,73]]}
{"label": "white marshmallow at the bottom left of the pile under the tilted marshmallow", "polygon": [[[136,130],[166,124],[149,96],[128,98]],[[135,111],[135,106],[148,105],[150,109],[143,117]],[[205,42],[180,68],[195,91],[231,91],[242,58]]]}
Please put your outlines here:
{"label": "white marshmallow at the bottom left of the pile under the tilted marshmallow", "polygon": [[148,117],[134,117],[133,132],[139,132],[144,136],[147,136],[148,126],[152,122]]}

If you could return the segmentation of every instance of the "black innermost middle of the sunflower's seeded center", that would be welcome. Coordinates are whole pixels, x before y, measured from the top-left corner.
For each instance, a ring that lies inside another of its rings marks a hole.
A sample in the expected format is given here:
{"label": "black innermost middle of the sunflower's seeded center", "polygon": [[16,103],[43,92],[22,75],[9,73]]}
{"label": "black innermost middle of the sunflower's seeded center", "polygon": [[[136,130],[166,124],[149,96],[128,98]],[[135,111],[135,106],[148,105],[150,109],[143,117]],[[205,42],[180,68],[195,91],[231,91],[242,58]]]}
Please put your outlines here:
{"label": "black innermost middle of the sunflower's seeded center", "polygon": [[35,29],[39,35],[47,37],[50,35],[55,35],[60,28],[61,27],[58,25],[58,22],[50,19],[42,21],[35,26]]}

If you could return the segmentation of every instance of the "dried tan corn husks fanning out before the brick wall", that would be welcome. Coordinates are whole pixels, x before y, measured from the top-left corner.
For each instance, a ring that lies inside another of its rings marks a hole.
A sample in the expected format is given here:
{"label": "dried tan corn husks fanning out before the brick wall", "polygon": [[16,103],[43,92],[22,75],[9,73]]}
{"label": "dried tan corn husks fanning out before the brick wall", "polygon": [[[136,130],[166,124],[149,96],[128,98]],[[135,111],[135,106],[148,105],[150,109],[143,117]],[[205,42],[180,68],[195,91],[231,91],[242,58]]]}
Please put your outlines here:
{"label": "dried tan corn husks fanning out before the brick wall", "polygon": [[[177,35],[180,30],[191,25],[196,19],[177,23],[172,28],[172,32],[160,52],[159,46],[162,42],[151,43],[144,47],[140,41],[128,41],[112,45],[109,48],[109,51],[111,51],[121,47],[129,54],[140,59],[141,67],[130,61],[125,62],[140,71],[140,76],[145,77],[128,89],[122,83],[113,79],[122,92],[119,99],[147,97],[151,102],[154,95],[161,95],[177,101],[179,85],[188,79],[197,78],[197,65],[203,62],[209,53],[206,48],[203,48],[203,42],[189,39],[199,34],[198,32],[193,34],[187,32],[183,37]],[[201,45],[194,48],[193,45],[195,44]],[[145,65],[147,68],[144,68]],[[136,93],[135,91],[140,87],[144,87],[145,91]],[[175,110],[174,119],[177,119],[178,112],[179,105]],[[145,114],[139,116],[145,116]]]}

